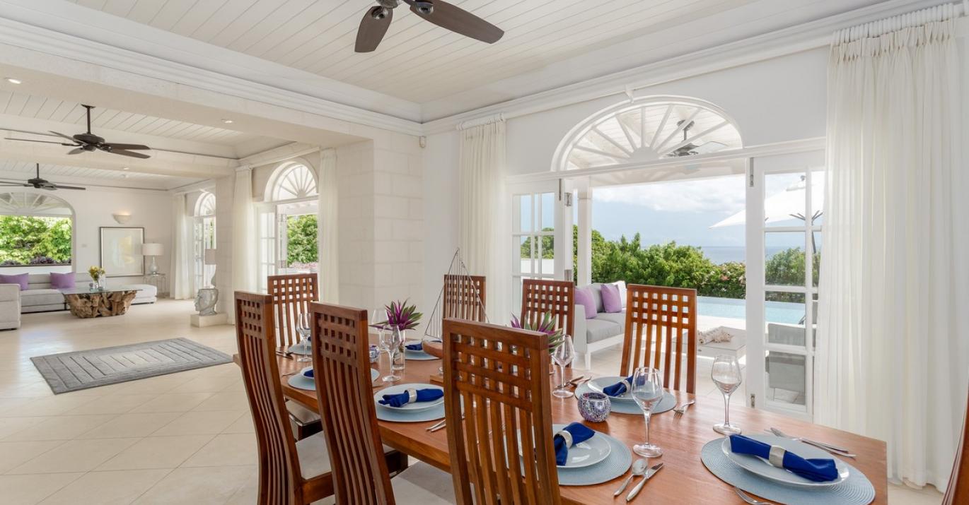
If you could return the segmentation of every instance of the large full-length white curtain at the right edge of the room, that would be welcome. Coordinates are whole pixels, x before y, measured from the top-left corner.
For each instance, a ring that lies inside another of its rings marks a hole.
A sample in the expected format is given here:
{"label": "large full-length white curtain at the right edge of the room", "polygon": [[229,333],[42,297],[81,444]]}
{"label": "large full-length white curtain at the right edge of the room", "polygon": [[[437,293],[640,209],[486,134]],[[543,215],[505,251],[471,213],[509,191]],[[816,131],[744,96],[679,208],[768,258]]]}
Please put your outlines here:
{"label": "large full-length white curtain at the right edge of the room", "polygon": [[817,421],[886,440],[891,481],[940,490],[969,371],[952,15],[848,29],[831,46],[815,380]]}

